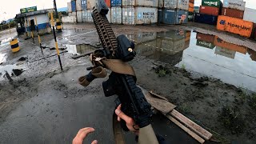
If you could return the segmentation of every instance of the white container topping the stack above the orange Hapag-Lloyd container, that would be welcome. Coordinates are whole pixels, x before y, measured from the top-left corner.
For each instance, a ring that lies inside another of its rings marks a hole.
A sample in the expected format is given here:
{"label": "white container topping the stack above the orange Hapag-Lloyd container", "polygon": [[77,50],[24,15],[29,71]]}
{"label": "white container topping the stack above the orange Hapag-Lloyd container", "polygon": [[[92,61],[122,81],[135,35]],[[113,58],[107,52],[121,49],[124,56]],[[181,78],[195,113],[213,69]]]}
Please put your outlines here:
{"label": "white container topping the stack above the orange Hapag-Lloyd container", "polygon": [[243,2],[242,0],[224,0],[223,7],[244,11],[246,2]]}

